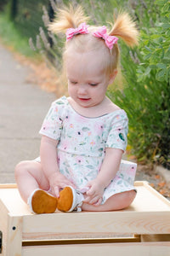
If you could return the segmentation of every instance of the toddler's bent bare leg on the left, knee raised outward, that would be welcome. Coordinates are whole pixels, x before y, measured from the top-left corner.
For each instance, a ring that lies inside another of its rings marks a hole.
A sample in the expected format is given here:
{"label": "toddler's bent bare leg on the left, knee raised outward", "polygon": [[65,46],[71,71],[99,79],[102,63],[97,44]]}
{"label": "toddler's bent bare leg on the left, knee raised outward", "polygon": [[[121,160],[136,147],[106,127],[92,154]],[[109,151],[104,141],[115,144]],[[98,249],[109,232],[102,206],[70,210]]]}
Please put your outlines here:
{"label": "toddler's bent bare leg on the left, knee raised outward", "polygon": [[49,189],[49,183],[42,172],[42,166],[36,161],[20,162],[15,167],[14,174],[20,195],[26,202],[33,190]]}

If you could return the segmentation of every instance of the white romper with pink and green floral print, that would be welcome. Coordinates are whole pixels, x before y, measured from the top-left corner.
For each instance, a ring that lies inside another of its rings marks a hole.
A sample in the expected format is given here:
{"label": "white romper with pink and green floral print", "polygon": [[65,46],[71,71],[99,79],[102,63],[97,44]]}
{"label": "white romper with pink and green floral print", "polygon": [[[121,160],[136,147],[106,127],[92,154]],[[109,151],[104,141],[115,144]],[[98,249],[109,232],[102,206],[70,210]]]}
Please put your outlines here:
{"label": "white romper with pink and green floral print", "polygon": [[[97,118],[77,113],[65,96],[52,103],[42,123],[40,134],[58,140],[59,172],[86,187],[99,173],[105,158],[105,148],[127,147],[127,114],[116,110]],[[123,161],[110,185],[105,188],[104,203],[111,195],[134,189],[136,164]]]}

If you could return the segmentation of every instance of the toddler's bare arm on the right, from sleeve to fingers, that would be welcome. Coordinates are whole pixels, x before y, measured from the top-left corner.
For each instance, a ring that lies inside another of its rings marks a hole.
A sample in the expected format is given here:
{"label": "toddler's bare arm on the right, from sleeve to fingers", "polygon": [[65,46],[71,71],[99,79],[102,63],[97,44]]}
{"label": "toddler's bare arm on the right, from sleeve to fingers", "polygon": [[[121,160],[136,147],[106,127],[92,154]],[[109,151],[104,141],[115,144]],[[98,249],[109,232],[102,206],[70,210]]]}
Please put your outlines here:
{"label": "toddler's bare arm on the right, from sleeve to fingers", "polygon": [[98,176],[87,184],[89,189],[85,202],[95,205],[101,203],[104,189],[111,183],[119,169],[122,153],[122,149],[106,148],[105,159]]}

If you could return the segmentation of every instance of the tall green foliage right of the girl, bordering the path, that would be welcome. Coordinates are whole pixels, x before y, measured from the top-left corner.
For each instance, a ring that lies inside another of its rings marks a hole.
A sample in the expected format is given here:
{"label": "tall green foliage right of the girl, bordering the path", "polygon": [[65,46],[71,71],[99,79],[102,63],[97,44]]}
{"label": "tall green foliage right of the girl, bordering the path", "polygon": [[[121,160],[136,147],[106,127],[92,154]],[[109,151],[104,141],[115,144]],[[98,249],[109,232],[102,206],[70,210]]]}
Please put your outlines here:
{"label": "tall green foliage right of the girl, bordering the path", "polygon": [[123,63],[127,84],[109,93],[128,113],[133,154],[170,169],[170,1],[157,0],[156,5],[160,19],[141,32],[139,66]]}

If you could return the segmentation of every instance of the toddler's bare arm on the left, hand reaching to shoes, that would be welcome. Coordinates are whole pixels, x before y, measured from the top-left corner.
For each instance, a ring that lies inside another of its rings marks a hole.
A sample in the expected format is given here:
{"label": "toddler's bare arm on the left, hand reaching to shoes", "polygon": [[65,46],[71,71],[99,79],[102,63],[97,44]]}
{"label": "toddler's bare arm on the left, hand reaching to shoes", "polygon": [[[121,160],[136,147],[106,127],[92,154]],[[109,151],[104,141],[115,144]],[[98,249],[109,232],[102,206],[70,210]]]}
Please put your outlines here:
{"label": "toddler's bare arm on the left, hand reaching to shoes", "polygon": [[42,136],[40,146],[40,157],[42,170],[48,178],[52,193],[59,197],[59,189],[63,189],[66,185],[74,186],[64,175],[59,172],[57,162],[57,144],[59,142],[46,136]]}

